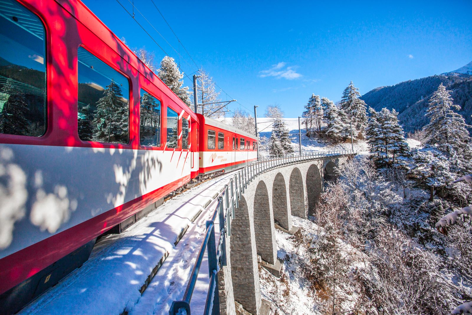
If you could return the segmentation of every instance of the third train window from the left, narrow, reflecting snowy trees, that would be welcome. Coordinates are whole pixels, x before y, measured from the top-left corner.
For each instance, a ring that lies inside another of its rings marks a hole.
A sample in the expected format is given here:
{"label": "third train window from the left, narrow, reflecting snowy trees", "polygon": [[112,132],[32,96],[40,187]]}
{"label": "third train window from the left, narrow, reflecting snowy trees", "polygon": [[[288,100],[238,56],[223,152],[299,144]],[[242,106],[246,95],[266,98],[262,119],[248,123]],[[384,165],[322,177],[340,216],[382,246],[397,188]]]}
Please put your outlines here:
{"label": "third train window from the left, narrow, reflecting snowy trees", "polygon": [[160,101],[141,89],[139,103],[141,145],[160,146]]}

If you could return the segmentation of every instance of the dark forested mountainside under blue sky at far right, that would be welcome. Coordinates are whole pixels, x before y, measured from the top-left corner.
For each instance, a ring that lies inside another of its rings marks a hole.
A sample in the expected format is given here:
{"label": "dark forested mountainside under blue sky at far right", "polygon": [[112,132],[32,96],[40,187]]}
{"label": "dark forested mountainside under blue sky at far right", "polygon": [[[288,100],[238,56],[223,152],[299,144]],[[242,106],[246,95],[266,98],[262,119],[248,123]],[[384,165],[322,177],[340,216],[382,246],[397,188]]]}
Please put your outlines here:
{"label": "dark forested mountainside under blue sky at far right", "polygon": [[431,94],[440,84],[452,90],[459,111],[468,124],[472,124],[472,76],[445,74],[409,80],[391,86],[382,86],[362,95],[361,99],[376,111],[386,107],[399,112],[405,131],[414,131],[428,123],[424,116]]}

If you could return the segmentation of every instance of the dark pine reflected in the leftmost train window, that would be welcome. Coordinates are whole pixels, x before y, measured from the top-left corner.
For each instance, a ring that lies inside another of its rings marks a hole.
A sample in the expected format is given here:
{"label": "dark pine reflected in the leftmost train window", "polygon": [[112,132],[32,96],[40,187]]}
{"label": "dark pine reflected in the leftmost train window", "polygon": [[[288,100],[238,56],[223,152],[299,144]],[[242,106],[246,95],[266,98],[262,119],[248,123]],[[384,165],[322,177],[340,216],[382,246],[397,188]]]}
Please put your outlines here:
{"label": "dark pine reflected in the leftmost train window", "polygon": [[25,117],[28,103],[25,94],[13,85],[14,80],[8,78],[3,85],[2,93],[8,95],[8,101],[3,104],[0,112],[0,132],[9,135],[28,135],[30,121]]}

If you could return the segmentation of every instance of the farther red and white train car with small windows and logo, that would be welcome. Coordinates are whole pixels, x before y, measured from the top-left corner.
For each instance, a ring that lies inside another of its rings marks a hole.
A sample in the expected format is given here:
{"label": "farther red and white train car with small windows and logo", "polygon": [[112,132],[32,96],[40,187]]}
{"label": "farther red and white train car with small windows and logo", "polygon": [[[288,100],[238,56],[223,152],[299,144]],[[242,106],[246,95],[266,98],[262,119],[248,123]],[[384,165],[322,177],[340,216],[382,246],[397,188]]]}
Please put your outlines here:
{"label": "farther red and white train car with small windows and logo", "polygon": [[228,171],[257,160],[257,138],[217,119],[197,114],[200,121],[200,174]]}

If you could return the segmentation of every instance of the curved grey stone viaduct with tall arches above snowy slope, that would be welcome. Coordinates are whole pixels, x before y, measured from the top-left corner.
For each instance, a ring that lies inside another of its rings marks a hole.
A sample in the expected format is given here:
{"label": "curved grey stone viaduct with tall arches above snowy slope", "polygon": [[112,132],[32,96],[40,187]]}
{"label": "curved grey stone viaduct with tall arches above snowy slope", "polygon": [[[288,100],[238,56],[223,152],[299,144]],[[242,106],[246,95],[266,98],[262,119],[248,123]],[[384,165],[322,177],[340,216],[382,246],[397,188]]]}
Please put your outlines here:
{"label": "curved grey stone viaduct with tall arches above snowy slope", "polygon": [[249,183],[231,222],[230,241],[226,243],[228,264],[218,272],[221,314],[236,314],[233,301],[251,314],[261,314],[257,256],[276,264],[275,222],[290,231],[291,215],[312,215],[324,181],[335,177],[335,167],[347,158],[324,156],[281,165]]}

